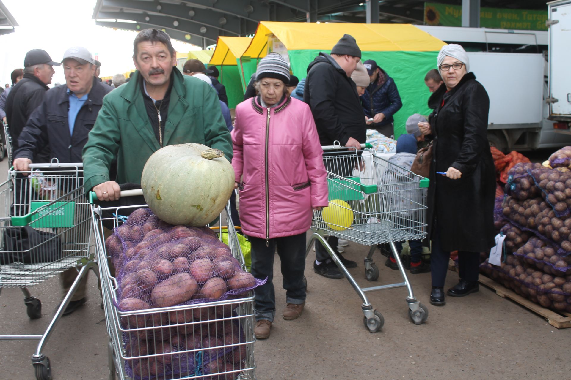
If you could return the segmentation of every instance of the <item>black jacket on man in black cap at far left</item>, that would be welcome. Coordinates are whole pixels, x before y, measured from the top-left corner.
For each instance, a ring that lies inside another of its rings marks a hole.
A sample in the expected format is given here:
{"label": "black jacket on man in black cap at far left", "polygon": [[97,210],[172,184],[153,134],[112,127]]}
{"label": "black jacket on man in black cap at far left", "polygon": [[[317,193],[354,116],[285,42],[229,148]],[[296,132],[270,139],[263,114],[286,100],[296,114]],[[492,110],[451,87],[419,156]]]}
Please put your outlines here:
{"label": "black jacket on man in black cap at far left", "polygon": [[[12,137],[12,149],[18,149],[18,138],[31,113],[40,104],[43,96],[50,88],[31,73],[24,74],[6,99],[6,122]],[[15,157],[15,156],[14,156]],[[47,156],[42,157],[44,160]]]}

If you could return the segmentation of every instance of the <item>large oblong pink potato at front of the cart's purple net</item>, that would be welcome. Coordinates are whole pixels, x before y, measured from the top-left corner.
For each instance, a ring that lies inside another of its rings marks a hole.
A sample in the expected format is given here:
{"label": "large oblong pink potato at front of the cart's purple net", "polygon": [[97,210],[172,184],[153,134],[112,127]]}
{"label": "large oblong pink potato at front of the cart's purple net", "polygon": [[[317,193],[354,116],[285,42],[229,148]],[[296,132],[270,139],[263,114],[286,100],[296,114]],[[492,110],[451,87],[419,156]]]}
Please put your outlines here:
{"label": "large oblong pink potato at front of the cart's purple net", "polygon": [[197,289],[196,280],[188,273],[176,273],[152,289],[152,303],[159,308],[182,304],[190,300]]}

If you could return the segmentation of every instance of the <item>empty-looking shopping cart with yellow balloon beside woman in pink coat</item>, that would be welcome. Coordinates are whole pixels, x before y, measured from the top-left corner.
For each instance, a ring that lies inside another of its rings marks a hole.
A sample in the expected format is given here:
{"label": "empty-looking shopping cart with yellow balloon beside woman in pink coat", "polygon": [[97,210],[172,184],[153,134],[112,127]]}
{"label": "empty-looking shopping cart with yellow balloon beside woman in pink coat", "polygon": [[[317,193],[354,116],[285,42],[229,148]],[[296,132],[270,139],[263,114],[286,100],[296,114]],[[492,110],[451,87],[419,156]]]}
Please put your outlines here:
{"label": "empty-looking shopping cart with yellow balloon beside woman in pink coat", "polygon": [[[413,295],[395,242],[426,237],[425,193],[428,179],[376,157],[369,144],[363,144],[361,148],[367,150],[347,152],[347,149],[339,144],[323,146],[329,206],[321,211],[313,211],[311,229],[314,232],[305,254],[309,253],[315,240],[323,244],[331,259],[361,297],[363,322],[370,332],[377,332],[383,327],[384,317],[373,309],[365,293],[381,289],[407,287],[409,317],[415,324],[421,324],[427,320],[428,309]],[[375,281],[379,277],[379,268],[372,259],[373,253],[379,244],[388,243],[403,276],[403,282],[359,287],[327,243],[325,234],[371,246],[364,260],[365,277],[369,281]]]}

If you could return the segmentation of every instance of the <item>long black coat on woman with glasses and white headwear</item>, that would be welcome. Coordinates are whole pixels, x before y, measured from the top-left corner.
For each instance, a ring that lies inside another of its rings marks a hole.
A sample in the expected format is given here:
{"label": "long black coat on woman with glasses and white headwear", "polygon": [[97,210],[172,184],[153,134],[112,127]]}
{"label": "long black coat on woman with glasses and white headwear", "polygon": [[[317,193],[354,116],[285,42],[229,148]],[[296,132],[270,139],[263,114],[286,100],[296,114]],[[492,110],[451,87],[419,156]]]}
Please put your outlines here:
{"label": "long black coat on woman with glasses and white headwear", "polygon": [[[444,100],[444,106],[442,102]],[[469,72],[450,91],[441,86],[428,100],[434,137],[428,188],[429,235],[439,232],[443,251],[483,252],[495,245],[496,174],[488,144],[488,93]],[[460,179],[436,171],[460,170]],[[435,226],[437,221],[437,229]]]}

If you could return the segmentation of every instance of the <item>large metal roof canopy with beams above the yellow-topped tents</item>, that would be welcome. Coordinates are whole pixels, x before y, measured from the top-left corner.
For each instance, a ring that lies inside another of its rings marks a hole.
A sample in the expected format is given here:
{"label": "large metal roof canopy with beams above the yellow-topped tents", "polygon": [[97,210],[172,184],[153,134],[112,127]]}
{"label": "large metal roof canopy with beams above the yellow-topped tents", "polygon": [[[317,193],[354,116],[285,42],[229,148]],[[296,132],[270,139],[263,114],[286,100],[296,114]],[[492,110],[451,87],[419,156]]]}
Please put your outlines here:
{"label": "large metal roof canopy with beams above the yellow-topped tents", "polygon": [[[462,5],[462,0],[435,0]],[[545,0],[470,0],[481,7],[545,9]],[[372,11],[379,8],[379,18]],[[373,12],[371,14],[371,12]],[[260,21],[424,23],[423,0],[98,0],[96,24],[127,30],[164,29],[206,47],[218,36],[246,36]]]}

